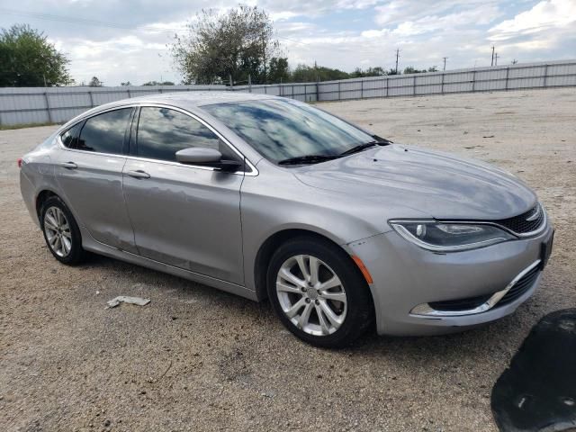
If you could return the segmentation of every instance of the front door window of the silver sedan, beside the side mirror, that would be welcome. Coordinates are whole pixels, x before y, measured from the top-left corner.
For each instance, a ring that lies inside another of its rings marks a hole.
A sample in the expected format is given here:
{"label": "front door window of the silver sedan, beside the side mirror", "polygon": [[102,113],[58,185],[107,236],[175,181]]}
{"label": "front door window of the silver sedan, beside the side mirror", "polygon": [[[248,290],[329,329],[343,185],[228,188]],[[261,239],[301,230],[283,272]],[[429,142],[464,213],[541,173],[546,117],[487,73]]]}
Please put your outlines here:
{"label": "front door window of the silver sedan, beside the side mirror", "polygon": [[210,129],[175,110],[143,107],[138,124],[138,156],[175,161],[175,152],[184,148],[214,148],[226,155],[229,150]]}

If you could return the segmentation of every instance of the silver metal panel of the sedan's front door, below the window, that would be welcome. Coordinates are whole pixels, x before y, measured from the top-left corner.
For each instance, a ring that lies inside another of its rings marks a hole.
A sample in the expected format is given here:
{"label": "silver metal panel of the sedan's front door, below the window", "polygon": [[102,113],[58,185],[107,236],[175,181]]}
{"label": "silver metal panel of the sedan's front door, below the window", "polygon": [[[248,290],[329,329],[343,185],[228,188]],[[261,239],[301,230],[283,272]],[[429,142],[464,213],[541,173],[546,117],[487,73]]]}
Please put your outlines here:
{"label": "silver metal panel of the sedan's front door, below the window", "polygon": [[129,159],[124,166],[124,196],[139,254],[243,284],[239,192],[243,178]]}

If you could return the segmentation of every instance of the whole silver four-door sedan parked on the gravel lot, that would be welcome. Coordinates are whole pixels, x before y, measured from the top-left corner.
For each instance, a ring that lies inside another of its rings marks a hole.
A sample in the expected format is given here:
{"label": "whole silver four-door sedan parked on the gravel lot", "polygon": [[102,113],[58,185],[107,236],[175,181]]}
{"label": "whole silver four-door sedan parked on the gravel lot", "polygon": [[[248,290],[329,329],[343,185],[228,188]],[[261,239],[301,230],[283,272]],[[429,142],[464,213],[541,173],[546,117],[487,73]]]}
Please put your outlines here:
{"label": "whole silver four-door sedan parked on the gravel lot", "polygon": [[536,289],[554,235],[536,194],[495,166],[267,95],[108,103],[19,164],[61,263],[90,251],[267,298],[321,347],[508,315]]}

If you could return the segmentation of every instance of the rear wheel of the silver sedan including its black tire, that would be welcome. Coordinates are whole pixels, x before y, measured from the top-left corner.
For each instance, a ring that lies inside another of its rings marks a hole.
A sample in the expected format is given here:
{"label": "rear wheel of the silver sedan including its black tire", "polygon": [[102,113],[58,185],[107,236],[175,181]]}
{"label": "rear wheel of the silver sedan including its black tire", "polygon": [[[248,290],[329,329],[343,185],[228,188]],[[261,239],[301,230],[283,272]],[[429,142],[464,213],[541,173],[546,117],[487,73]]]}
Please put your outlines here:
{"label": "rear wheel of the silver sedan including its black tire", "polygon": [[75,266],[85,259],[80,229],[72,212],[58,196],[51,196],[42,203],[40,228],[49,251],[60,263]]}

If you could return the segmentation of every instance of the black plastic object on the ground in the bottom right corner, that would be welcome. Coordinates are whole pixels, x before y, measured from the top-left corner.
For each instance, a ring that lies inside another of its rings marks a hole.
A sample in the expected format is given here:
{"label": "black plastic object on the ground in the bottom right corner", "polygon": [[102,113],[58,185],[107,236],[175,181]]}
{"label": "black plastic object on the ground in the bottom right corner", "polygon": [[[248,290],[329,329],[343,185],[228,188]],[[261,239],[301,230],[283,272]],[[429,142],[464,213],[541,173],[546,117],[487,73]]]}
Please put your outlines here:
{"label": "black plastic object on the ground in the bottom right corner", "polygon": [[546,315],[492,388],[502,431],[576,430],[576,309]]}

